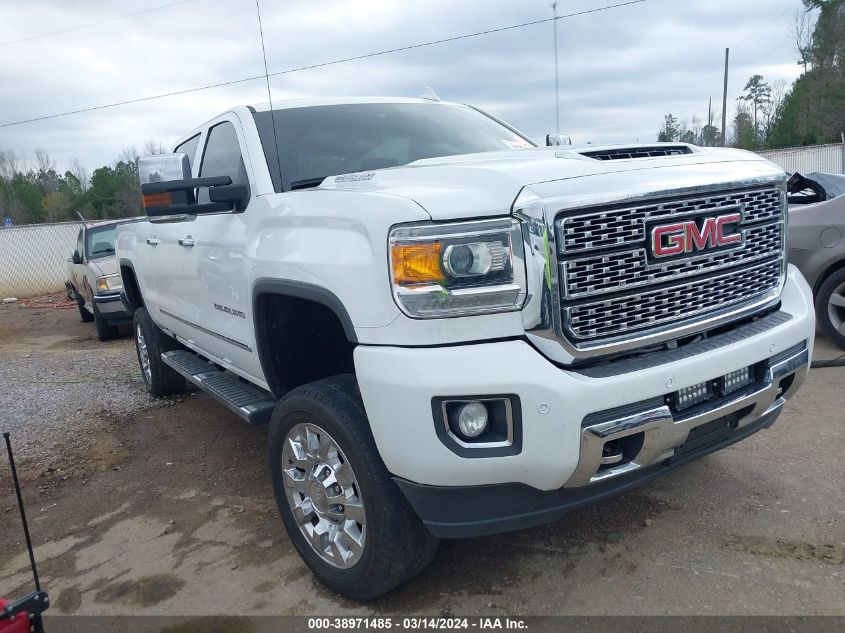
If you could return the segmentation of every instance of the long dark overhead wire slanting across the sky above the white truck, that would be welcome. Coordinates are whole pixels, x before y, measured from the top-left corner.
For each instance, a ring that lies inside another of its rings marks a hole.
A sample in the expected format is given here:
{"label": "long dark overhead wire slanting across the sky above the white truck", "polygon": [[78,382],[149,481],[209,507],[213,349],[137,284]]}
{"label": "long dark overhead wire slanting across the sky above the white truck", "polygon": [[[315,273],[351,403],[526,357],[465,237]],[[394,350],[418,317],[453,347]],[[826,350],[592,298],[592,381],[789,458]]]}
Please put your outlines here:
{"label": "long dark overhead wire slanting across the sky above the white truck", "polygon": [[[191,0],[183,0],[183,1],[189,2]],[[425,48],[425,47],[428,47],[428,46],[435,46],[435,45],[438,45],[438,44],[446,44],[446,43],[449,43],[449,42],[456,42],[458,40],[465,40],[465,39],[469,39],[471,37],[479,37],[481,35],[491,35],[493,33],[501,33],[503,31],[512,31],[514,29],[521,29],[521,28],[525,28],[525,27],[529,27],[529,26],[535,26],[537,24],[546,24],[548,22],[552,22],[553,20],[564,20],[564,19],[567,19],[567,18],[574,18],[574,17],[578,17],[578,16],[582,16],[582,15],[587,15],[587,14],[590,14],[590,13],[598,13],[600,11],[609,11],[611,9],[619,9],[619,8],[622,8],[622,7],[627,7],[627,6],[631,6],[631,5],[635,5],[635,4],[642,4],[642,3],[647,2],[647,1],[648,0],[629,0],[628,2],[620,2],[618,4],[611,4],[611,5],[607,5],[607,6],[603,6],[603,7],[596,7],[595,9],[586,9],[584,11],[578,11],[576,13],[568,13],[568,14],[565,14],[565,15],[558,15],[557,17],[544,18],[544,19],[541,19],[541,20],[532,20],[530,22],[522,22],[520,24],[511,24],[509,26],[502,26],[502,27],[498,27],[498,28],[495,28],[495,29],[487,29],[486,31],[477,31],[475,33],[465,33],[464,35],[456,35],[454,37],[446,37],[446,38],[439,39],[439,40],[432,40],[430,42],[421,42],[419,44],[409,44],[407,46],[399,46],[399,47],[391,48],[391,49],[384,50],[384,51],[377,51],[377,52],[373,52],[373,53],[365,53],[363,55],[355,55],[353,57],[344,57],[342,59],[335,59],[335,60],[332,60],[332,61],[321,62],[319,64],[310,64],[308,66],[299,66],[299,67],[296,67],[296,68],[288,68],[287,70],[279,70],[279,71],[272,72],[272,73],[255,75],[253,77],[243,77],[241,79],[233,79],[231,81],[222,81],[222,82],[219,82],[219,83],[209,84],[207,86],[197,86],[196,88],[186,88],[185,90],[176,90],[174,92],[167,92],[167,93],[158,94],[158,95],[150,95],[148,97],[138,97],[138,98],[135,98],[135,99],[127,99],[125,101],[116,101],[114,103],[107,103],[107,104],[98,105],[98,106],[91,106],[91,107],[88,107],[88,108],[80,108],[78,110],[70,110],[68,112],[59,112],[59,113],[56,113],[56,114],[47,114],[47,115],[40,116],[40,117],[33,117],[31,119],[24,119],[24,120],[21,120],[21,121],[13,121],[11,123],[2,123],[2,124],[0,124],[0,128],[12,127],[14,125],[24,125],[25,123],[35,123],[36,121],[46,121],[48,119],[57,119],[57,118],[63,117],[63,116],[70,116],[72,114],[82,114],[84,112],[93,112],[95,110],[104,110],[106,108],[116,108],[118,106],[130,105],[130,104],[133,104],[133,103],[142,103],[144,101],[153,101],[155,99],[164,99],[164,98],[167,98],[167,97],[175,97],[175,96],[178,96],[178,95],[184,95],[184,94],[188,94],[188,93],[192,93],[192,92],[199,92],[199,91],[202,91],[202,90],[210,90],[212,88],[221,88],[223,86],[232,86],[232,85],[235,85],[235,84],[246,83],[248,81],[255,81],[257,79],[265,79],[266,77],[278,77],[280,75],[289,75],[291,73],[302,72],[302,71],[305,71],[305,70],[315,70],[317,68],[325,68],[326,66],[333,66],[335,64],[345,64],[347,62],[360,61],[362,59],[370,59],[372,57],[379,57],[379,56],[382,56],[382,55],[390,55],[390,54],[393,54],[393,53],[400,53],[400,52],[404,52],[404,51],[410,51],[410,50],[415,50],[415,49],[419,49],[419,48]]]}

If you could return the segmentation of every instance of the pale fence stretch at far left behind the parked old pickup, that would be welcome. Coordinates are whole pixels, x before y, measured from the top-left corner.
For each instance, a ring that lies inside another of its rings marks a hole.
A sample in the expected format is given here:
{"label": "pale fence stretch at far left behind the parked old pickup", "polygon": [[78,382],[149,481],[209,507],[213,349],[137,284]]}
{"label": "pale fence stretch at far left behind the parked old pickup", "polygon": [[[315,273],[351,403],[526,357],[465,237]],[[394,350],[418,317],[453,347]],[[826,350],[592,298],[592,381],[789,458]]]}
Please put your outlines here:
{"label": "pale fence stretch at far left behind the parked old pickup", "polygon": [[64,289],[67,260],[81,226],[62,222],[0,229],[0,299],[25,299]]}

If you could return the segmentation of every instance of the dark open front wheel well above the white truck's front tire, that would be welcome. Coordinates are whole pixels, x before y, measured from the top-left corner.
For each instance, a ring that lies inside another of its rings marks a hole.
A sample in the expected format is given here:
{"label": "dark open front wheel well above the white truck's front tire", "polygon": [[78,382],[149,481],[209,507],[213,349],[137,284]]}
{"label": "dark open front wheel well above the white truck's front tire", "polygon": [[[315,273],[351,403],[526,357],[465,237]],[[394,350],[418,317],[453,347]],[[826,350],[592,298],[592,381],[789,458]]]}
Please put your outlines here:
{"label": "dark open front wheel well above the white truck's front tire", "polygon": [[[354,372],[352,351],[358,337],[346,307],[330,290],[259,279],[253,285],[252,309],[258,359],[275,397],[307,382]],[[319,366],[311,362],[315,357]]]}

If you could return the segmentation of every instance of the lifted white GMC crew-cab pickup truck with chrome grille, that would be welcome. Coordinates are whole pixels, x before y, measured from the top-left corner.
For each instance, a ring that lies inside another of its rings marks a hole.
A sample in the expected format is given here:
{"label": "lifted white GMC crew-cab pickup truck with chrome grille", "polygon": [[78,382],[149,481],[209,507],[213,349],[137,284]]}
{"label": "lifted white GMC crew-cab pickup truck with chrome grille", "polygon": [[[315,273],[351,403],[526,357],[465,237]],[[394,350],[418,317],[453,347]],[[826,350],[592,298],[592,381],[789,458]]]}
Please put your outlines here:
{"label": "lifted white GMC crew-cab pickup truck with chrome grille", "polygon": [[346,596],[738,442],[807,375],[753,154],[537,147],[392,98],[235,108],[174,151],[117,243],[145,383],[269,422],[284,525]]}

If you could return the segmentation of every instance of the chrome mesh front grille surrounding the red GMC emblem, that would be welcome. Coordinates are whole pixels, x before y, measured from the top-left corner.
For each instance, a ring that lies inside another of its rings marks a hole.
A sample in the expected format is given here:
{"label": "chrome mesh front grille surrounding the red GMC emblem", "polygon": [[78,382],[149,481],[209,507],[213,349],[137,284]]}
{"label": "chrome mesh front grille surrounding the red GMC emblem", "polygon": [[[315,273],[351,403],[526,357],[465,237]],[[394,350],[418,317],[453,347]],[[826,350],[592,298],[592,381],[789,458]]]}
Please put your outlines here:
{"label": "chrome mesh front grille surrounding the red GMC emblem", "polygon": [[[656,260],[655,220],[740,208],[744,245]],[[555,221],[562,323],[573,342],[648,335],[765,297],[783,275],[780,188],[707,193],[561,213]]]}

